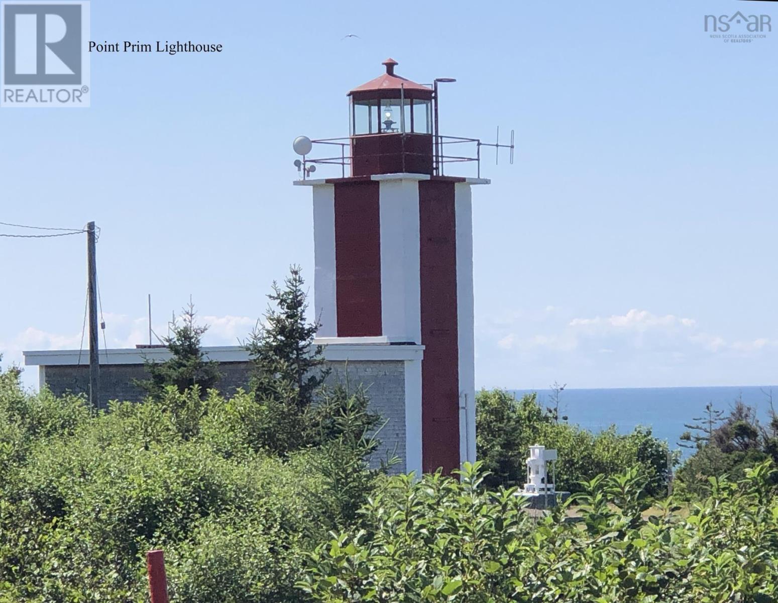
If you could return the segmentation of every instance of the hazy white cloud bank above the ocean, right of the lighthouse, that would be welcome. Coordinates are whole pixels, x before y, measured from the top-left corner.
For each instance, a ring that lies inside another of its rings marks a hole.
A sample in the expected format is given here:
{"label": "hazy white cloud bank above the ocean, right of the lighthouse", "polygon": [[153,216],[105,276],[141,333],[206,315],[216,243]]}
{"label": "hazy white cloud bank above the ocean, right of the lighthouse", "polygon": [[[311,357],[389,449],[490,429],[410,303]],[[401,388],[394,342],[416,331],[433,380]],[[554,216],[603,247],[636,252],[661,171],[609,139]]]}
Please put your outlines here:
{"label": "hazy white cloud bank above the ocean, right of the lighthouse", "polygon": [[576,316],[539,304],[478,321],[476,377],[508,387],[545,387],[560,375],[573,387],[768,383],[778,337],[764,335],[727,338],[695,317],[640,307]]}

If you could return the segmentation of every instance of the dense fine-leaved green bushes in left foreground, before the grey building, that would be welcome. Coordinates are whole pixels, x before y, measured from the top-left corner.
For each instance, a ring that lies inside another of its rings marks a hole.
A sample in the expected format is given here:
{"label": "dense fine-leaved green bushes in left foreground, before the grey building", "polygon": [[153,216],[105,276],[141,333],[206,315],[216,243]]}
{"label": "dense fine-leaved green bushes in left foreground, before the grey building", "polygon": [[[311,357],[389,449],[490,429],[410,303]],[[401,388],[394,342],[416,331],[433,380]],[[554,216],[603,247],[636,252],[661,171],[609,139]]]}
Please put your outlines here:
{"label": "dense fine-leaved green bushes in left foreground, before the grey building", "polygon": [[258,405],[170,386],[90,414],[4,376],[0,601],[145,601],[156,548],[176,601],[306,600],[303,552],[353,521],[381,473],[364,456],[377,418],[337,391],[317,447],[282,459],[246,420]]}

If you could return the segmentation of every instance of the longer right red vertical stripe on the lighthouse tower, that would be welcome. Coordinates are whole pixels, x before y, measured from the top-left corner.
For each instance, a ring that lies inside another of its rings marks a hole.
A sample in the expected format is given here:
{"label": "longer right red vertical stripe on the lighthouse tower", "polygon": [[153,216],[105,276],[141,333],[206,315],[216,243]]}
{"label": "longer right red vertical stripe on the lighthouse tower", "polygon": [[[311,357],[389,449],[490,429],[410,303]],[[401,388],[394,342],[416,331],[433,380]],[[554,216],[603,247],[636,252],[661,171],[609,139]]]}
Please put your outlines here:
{"label": "longer right red vertical stripe on the lighthouse tower", "polygon": [[459,467],[459,348],[454,183],[419,182],[422,465]]}

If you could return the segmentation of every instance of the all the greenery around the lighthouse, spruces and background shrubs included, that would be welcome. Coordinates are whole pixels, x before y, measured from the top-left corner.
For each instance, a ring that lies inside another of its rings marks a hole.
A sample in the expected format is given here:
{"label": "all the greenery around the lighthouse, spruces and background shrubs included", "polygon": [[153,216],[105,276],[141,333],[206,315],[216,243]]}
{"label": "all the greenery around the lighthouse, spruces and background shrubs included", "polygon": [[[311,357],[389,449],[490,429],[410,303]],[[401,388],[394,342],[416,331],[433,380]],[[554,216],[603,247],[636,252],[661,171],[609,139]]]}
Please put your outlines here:
{"label": "all the greenery around the lighthouse, spruces and background shrubs included", "polygon": [[[0,373],[0,603],[141,603],[155,548],[187,603],[778,600],[775,419],[709,409],[682,506],[662,498],[666,444],[568,425],[564,386],[545,409],[480,392],[482,461],[389,477],[392,459],[368,463],[381,419],[365,391],[324,387],[298,268],[270,298],[251,384],[229,399],[192,307],[142,403],[94,412]],[[576,493],[548,514],[506,488],[532,443],[559,450]]]}

